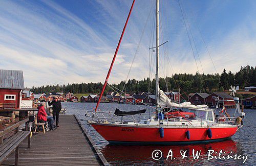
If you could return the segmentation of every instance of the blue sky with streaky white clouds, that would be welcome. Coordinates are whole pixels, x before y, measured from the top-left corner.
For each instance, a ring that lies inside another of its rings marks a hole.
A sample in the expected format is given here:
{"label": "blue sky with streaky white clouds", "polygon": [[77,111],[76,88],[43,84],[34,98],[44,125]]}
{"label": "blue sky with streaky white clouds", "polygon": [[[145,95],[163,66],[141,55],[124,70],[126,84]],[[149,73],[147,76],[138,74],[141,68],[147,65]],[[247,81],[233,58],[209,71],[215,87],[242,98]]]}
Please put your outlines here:
{"label": "blue sky with streaky white clouds", "polygon": [[[1,0],[0,68],[23,70],[26,87],[104,82],[131,5]],[[135,2],[109,83],[153,78],[155,5]],[[255,66],[255,15],[256,1],[160,1],[160,76]]]}

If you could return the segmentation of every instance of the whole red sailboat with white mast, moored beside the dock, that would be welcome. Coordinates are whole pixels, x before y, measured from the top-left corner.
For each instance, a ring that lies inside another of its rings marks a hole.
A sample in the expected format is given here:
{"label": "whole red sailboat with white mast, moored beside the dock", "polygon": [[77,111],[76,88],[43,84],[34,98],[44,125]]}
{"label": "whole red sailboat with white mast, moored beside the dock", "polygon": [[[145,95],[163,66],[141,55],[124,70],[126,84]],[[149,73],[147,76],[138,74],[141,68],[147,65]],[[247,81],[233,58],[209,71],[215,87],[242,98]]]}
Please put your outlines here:
{"label": "whole red sailboat with white mast, moored beside the dock", "polygon": [[[214,109],[206,105],[192,105],[190,102],[182,104],[172,103],[159,88],[159,0],[156,0],[156,114],[151,118],[139,118],[136,115],[145,113],[146,110],[120,111],[116,109],[114,115],[109,112],[99,111],[97,108],[108,83],[119,45],[121,43],[127,22],[131,15],[134,2],[126,19],[122,35],[112,60],[108,75],[100,94],[95,111],[87,111],[86,117],[90,124],[104,139],[110,143],[150,143],[150,144],[173,144],[173,143],[198,143],[199,141],[217,141],[231,137],[241,125],[239,102],[236,101],[240,117],[229,117],[228,120],[219,121]],[[186,112],[166,112],[165,108],[181,108]],[[116,119],[117,116],[121,120]],[[124,121],[123,117],[132,116],[132,121]],[[236,121],[237,120],[237,121]]]}

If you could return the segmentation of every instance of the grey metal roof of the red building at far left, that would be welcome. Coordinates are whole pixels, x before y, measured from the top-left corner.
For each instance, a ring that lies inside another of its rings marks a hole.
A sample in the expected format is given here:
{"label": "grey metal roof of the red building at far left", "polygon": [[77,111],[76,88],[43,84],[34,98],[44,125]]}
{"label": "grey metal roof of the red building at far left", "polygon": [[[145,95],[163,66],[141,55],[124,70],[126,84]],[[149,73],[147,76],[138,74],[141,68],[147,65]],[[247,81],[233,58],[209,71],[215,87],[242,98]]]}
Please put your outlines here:
{"label": "grey metal roof of the red building at far left", "polygon": [[0,69],[0,88],[24,89],[23,71]]}

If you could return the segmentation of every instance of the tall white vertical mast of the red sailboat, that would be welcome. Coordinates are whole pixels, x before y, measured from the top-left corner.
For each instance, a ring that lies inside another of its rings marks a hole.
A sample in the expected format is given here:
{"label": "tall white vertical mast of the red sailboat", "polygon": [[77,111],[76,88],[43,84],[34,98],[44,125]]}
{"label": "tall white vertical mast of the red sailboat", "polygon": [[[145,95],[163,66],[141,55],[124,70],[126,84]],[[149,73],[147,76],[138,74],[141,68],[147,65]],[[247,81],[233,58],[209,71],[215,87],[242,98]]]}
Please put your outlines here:
{"label": "tall white vertical mast of the red sailboat", "polygon": [[156,0],[156,107],[159,107],[159,0]]}

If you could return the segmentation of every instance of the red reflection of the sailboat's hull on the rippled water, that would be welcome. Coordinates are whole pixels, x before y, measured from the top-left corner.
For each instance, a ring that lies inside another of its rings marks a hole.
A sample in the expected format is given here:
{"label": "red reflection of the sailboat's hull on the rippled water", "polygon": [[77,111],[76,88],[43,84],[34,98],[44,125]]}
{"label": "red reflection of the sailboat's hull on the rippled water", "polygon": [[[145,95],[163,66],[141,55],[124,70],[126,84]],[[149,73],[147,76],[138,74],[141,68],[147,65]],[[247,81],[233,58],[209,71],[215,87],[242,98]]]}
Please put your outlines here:
{"label": "red reflection of the sailboat's hull on the rippled water", "polygon": [[[201,163],[203,164],[207,160],[208,150],[214,150],[219,152],[220,150],[225,151],[229,154],[231,151],[237,153],[237,145],[233,140],[226,140],[217,143],[210,144],[198,144],[198,145],[184,145],[184,146],[142,146],[142,145],[106,145],[101,148],[102,154],[110,163],[115,163],[118,160],[119,164],[130,163],[136,164],[144,161],[143,164],[153,164],[153,163],[164,163],[164,164],[175,164],[175,163]],[[152,152],[154,150],[161,150],[163,157],[162,159],[156,161],[152,158]],[[200,159],[193,159],[193,149],[195,151],[201,152]],[[172,150],[173,157],[176,159],[166,161],[166,156],[169,150]],[[180,151],[186,151],[187,157],[182,160]],[[203,157],[203,160],[201,159]],[[217,162],[217,161],[215,161]],[[224,161],[225,162],[225,161]],[[229,163],[232,161],[229,161]],[[223,163],[223,162],[222,162]]]}

